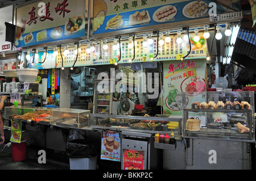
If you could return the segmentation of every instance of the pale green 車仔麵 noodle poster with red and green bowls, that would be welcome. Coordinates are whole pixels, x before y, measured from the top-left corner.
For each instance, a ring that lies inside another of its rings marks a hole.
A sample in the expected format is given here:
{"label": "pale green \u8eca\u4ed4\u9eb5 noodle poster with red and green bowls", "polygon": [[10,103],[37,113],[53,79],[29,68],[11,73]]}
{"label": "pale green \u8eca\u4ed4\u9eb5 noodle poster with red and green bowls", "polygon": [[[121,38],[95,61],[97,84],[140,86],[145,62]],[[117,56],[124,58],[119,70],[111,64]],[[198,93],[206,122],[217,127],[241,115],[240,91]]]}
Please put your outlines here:
{"label": "pale green \u8eca\u4ed4\u9eb5 noodle poster with red and green bowls", "polygon": [[[182,115],[182,106],[191,107],[195,101],[204,101],[206,90],[205,59],[164,62],[164,114]],[[187,97],[182,99],[182,92]]]}

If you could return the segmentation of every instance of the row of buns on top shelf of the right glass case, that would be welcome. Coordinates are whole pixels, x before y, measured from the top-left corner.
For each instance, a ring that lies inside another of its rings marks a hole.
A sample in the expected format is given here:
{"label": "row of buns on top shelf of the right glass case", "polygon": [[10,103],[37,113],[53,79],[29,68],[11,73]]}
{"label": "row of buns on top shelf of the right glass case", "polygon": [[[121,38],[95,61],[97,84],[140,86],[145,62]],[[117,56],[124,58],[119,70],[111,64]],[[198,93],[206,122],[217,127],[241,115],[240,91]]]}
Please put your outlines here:
{"label": "row of buns on top shelf of the right glass case", "polygon": [[238,101],[234,101],[233,103],[230,101],[226,101],[225,103],[222,101],[218,101],[217,103],[210,101],[207,102],[193,102],[191,104],[191,108],[193,109],[234,109],[234,110],[249,110],[251,108],[250,104],[246,101],[242,101],[241,103]]}

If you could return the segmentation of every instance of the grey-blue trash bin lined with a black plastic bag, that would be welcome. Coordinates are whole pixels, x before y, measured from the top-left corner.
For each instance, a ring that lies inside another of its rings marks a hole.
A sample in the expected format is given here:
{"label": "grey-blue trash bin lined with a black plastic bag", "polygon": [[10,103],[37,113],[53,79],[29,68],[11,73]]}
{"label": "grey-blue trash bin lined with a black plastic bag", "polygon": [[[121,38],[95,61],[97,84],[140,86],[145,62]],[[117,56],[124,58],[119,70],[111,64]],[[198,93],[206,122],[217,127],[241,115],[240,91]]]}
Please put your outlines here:
{"label": "grey-blue trash bin lined with a black plastic bag", "polygon": [[72,140],[66,145],[71,170],[96,170],[97,153],[93,142],[88,140]]}

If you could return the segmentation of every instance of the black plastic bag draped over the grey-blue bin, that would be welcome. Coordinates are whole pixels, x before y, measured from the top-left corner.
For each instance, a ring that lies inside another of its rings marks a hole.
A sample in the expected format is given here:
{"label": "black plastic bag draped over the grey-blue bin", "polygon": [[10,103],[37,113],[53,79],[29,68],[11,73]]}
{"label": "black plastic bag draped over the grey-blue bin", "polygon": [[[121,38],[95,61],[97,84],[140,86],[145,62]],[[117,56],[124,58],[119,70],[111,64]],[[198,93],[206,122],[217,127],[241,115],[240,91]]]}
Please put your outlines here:
{"label": "black plastic bag draped over the grey-blue bin", "polygon": [[92,158],[97,155],[93,142],[81,139],[67,142],[66,153],[69,158]]}

